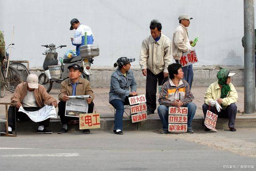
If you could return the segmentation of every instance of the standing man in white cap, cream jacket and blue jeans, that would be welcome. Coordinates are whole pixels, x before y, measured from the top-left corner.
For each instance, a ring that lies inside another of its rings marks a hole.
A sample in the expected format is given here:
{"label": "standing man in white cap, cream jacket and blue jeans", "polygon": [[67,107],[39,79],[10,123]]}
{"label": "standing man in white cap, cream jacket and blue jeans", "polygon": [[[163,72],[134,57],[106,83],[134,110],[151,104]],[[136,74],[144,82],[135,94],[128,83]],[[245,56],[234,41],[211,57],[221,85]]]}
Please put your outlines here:
{"label": "standing man in white cap, cream jacket and blue jeans", "polygon": [[[176,63],[178,63],[178,60],[182,57],[182,53],[192,50],[190,44],[192,44],[193,41],[189,41],[187,29],[191,19],[193,18],[186,14],[181,14],[178,18],[180,25],[174,31],[172,38],[172,56],[174,60],[176,60]],[[182,71],[184,73],[183,79],[188,82],[191,89],[194,77],[193,66],[182,67]]]}

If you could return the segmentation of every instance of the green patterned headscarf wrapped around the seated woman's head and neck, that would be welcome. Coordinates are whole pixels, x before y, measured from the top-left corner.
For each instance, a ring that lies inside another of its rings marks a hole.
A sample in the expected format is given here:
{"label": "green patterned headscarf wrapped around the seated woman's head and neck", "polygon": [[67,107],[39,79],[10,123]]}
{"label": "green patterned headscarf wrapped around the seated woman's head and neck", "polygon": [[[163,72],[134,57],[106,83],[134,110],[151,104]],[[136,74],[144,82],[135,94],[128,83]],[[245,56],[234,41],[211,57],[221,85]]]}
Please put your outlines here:
{"label": "green patterned headscarf wrapped around the seated woman's head and neck", "polygon": [[224,68],[221,69],[217,74],[218,84],[222,86],[221,94],[220,94],[220,98],[222,99],[226,98],[228,92],[230,91],[230,86],[226,84],[228,80],[228,74],[229,74],[229,71]]}

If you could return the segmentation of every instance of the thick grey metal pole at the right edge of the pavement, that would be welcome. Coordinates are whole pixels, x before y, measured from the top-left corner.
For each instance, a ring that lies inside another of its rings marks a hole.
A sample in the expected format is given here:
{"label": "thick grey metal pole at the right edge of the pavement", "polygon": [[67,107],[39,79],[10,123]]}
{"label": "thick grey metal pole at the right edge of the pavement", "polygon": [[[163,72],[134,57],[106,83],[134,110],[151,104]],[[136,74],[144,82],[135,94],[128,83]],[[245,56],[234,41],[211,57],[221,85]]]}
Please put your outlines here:
{"label": "thick grey metal pole at the right edge of the pavement", "polygon": [[244,0],[244,113],[255,113],[254,0]]}

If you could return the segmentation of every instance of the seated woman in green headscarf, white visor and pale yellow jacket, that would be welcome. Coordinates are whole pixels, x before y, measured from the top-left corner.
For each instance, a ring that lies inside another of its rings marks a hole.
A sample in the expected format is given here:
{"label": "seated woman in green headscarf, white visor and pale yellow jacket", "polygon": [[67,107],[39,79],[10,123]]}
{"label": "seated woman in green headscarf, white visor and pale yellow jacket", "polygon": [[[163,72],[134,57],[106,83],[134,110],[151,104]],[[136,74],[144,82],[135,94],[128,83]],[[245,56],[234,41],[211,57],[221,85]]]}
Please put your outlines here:
{"label": "seated woman in green headscarf, white visor and pale yellow jacket", "polygon": [[[230,73],[227,69],[221,69],[217,74],[218,81],[212,83],[204,93],[204,117],[206,117],[207,110],[210,110],[217,114],[218,118],[228,118],[230,131],[236,131],[235,119],[238,95],[231,83],[231,76],[235,74]],[[210,129],[205,128],[205,131],[210,131]]]}

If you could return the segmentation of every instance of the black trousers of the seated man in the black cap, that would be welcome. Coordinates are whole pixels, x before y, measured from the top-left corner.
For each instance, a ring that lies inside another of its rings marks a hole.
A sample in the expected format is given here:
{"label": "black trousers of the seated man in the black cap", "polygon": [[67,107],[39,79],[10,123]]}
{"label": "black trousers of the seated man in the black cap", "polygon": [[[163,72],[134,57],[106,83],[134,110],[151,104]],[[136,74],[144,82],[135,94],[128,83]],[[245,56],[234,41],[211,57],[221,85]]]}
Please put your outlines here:
{"label": "black trousers of the seated man in the black cap", "polygon": [[[90,103],[88,105],[88,113],[92,113],[93,112],[93,107],[94,107],[94,103]],[[68,121],[70,120],[78,120],[79,117],[70,117],[70,116],[65,116],[65,110],[66,110],[66,102],[64,101],[60,101],[58,103],[58,115],[60,116],[60,120],[62,124],[68,123]]]}

